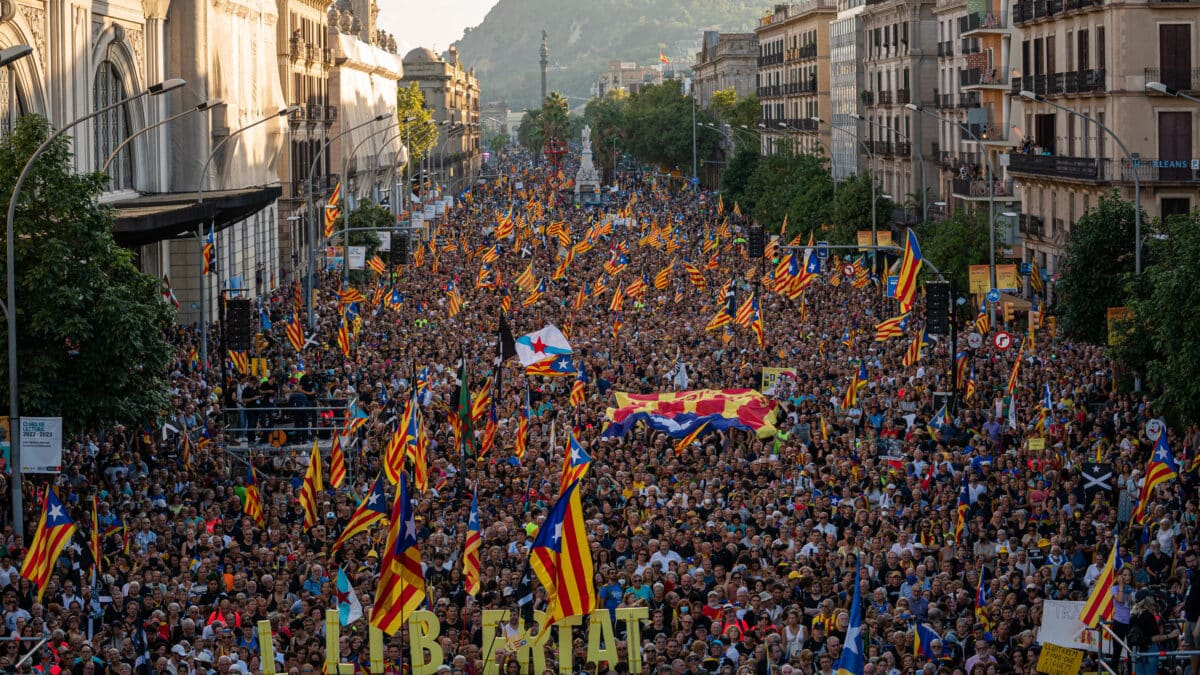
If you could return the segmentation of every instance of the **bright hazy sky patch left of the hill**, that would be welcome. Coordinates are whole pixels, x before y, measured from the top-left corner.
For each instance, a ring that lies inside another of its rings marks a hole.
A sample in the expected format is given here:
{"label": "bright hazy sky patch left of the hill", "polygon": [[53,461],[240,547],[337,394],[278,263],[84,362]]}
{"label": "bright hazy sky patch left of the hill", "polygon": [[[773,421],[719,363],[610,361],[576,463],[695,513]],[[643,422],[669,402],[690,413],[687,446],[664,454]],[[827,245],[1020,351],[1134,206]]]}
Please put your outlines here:
{"label": "bright hazy sky patch left of the hill", "polygon": [[497,0],[377,0],[379,25],[396,36],[403,56],[414,47],[438,54],[462,37],[462,29],[479,25]]}

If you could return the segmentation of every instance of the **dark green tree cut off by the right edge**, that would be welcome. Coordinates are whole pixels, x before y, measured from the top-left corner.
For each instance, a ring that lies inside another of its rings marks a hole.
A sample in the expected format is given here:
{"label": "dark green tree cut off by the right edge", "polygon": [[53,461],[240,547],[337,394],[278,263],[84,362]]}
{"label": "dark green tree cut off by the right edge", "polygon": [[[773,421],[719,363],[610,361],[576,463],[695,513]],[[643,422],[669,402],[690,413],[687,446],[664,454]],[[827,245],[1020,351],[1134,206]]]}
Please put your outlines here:
{"label": "dark green tree cut off by the right edge", "polygon": [[1184,426],[1200,410],[1200,322],[1189,311],[1200,306],[1200,210],[1169,219],[1146,249],[1146,258],[1154,262],[1140,279],[1127,277],[1133,318],[1124,327],[1129,333],[1111,352],[1146,374],[1157,408],[1174,425]]}

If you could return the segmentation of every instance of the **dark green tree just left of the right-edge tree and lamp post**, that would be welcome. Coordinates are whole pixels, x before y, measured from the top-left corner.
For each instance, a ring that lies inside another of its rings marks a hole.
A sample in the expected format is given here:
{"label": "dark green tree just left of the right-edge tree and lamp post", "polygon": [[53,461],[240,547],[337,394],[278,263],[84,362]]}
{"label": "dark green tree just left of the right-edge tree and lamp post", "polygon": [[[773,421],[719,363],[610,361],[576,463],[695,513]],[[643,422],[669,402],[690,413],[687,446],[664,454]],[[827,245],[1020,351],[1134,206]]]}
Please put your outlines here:
{"label": "dark green tree just left of the right-edge tree and lamp post", "polygon": [[1124,305],[1126,276],[1134,271],[1133,209],[1133,202],[1114,191],[1070,228],[1055,309],[1058,328],[1074,340],[1104,344],[1108,309]]}

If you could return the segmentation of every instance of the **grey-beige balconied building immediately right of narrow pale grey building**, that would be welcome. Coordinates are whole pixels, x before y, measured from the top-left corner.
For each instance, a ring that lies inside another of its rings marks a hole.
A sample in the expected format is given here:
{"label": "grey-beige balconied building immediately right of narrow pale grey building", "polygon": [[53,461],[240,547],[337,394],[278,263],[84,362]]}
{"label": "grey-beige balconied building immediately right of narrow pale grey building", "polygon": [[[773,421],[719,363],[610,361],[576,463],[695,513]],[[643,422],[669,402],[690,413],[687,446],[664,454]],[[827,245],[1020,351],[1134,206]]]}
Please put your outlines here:
{"label": "grey-beige balconied building immediately right of narrow pale grey building", "polygon": [[937,89],[937,22],[934,0],[868,0],[863,18],[866,54],[858,123],[866,168],[884,193],[904,203],[936,185],[932,142],[937,120],[905,108],[932,107]]}

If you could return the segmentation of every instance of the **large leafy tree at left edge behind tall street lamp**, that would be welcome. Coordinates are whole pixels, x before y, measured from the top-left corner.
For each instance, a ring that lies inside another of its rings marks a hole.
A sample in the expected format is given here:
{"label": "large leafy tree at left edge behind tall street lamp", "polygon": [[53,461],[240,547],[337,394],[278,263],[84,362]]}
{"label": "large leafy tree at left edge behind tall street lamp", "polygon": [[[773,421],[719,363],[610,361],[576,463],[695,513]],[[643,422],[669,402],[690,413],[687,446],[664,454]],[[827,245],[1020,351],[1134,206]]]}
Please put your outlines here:
{"label": "large leafy tree at left edge behind tall street lamp", "polygon": [[[49,131],[25,115],[0,142],[0,207]],[[59,138],[34,165],[13,226],[20,410],[61,417],[68,432],[152,422],[169,405],[173,312],[163,280],[138,271],[113,241],[112,211],[97,202],[107,181],[76,174],[71,141]],[[8,368],[4,350],[0,370]],[[7,378],[2,392],[7,399]]]}

